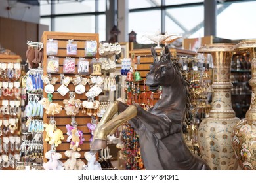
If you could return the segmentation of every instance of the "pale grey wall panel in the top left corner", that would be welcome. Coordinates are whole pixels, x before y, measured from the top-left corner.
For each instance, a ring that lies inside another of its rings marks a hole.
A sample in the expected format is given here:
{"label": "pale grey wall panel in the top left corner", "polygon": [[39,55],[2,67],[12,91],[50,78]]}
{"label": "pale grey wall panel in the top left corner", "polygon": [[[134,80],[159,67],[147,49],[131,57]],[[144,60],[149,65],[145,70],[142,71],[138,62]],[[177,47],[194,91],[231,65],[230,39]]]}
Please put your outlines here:
{"label": "pale grey wall panel in the top left corner", "polygon": [[[11,9],[7,10],[7,7],[10,7]],[[17,3],[15,0],[0,0],[0,17],[39,24],[40,7],[25,3]]]}

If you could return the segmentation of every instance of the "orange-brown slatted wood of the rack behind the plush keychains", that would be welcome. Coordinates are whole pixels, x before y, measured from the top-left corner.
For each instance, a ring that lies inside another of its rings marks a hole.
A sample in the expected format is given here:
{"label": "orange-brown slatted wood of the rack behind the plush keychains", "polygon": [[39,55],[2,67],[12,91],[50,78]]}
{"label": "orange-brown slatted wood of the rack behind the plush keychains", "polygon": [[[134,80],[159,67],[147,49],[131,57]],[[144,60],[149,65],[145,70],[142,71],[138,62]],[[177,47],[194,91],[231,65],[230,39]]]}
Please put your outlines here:
{"label": "orange-brown slatted wood of the rack behind the plush keychains", "polygon": [[[60,95],[56,90],[60,86],[60,74],[63,73],[63,61],[66,58],[66,44],[68,40],[73,40],[77,42],[77,55],[72,56],[72,58],[75,58],[76,61],[76,71],[75,73],[65,74],[65,76],[75,77],[77,74],[77,60],[79,58],[87,58],[89,60],[92,59],[92,57],[85,57],[85,41],[96,41],[98,45],[98,34],[97,33],[60,33],[60,32],[44,32],[43,36],[41,37],[41,42],[43,42],[43,47],[46,48],[47,40],[53,39],[58,41],[58,54],[56,55],[58,58],[60,58],[60,67],[58,73],[51,73],[52,77],[58,78],[58,82],[54,85],[55,91],[53,93],[53,103],[58,103],[59,105],[62,105],[62,111],[60,114],[54,115],[54,120],[56,121],[56,126],[63,131],[64,134],[64,140],[62,141],[62,144],[60,144],[56,148],[56,152],[59,152],[62,154],[62,159],[60,161],[64,162],[68,157],[64,155],[64,152],[66,150],[70,150],[70,142],[66,142],[68,135],[66,135],[66,124],[71,124],[71,117],[67,116],[66,112],[64,110],[64,99],[69,99],[69,93],[67,93],[64,97]],[[98,50],[98,47],[97,47]],[[98,58],[98,53],[95,56]],[[47,53],[46,49],[44,49],[44,58],[43,58],[43,75],[47,75]],[[84,76],[83,76],[84,77]],[[70,82],[68,85],[68,88],[70,91],[75,91],[75,86]],[[87,84],[86,91],[89,90],[89,86]],[[86,92],[85,92],[86,93]],[[81,102],[87,100],[87,97],[85,96],[85,93],[78,95],[75,93],[75,99],[80,99]],[[47,97],[47,93],[43,92],[43,97]],[[96,98],[97,99],[97,98]],[[43,122],[49,124],[50,116],[45,114],[43,115]],[[87,116],[86,114],[83,114],[80,110],[79,114],[75,116],[75,121],[77,122],[78,126],[77,129],[83,131],[83,138],[85,141],[80,146],[81,151],[79,152],[81,154],[81,159],[84,160],[84,153],[90,150],[90,143],[89,139],[91,138],[91,133],[89,129],[87,128],[87,123],[91,122],[91,116]],[[44,132],[44,139],[45,139],[45,132]],[[51,150],[51,145],[47,142],[43,142],[44,146],[44,154],[48,150]],[[44,161],[47,161],[47,159],[44,159]]]}

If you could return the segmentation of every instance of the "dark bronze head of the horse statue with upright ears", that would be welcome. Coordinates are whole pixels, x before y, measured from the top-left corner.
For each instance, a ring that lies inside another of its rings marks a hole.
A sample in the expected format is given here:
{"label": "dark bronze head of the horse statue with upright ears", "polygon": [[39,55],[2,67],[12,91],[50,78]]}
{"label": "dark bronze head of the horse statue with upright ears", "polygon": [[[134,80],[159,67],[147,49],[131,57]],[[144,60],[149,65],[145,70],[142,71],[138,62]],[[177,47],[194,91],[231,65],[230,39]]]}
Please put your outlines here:
{"label": "dark bronze head of the horse statue with upright ears", "polygon": [[169,86],[175,80],[175,69],[168,46],[165,46],[160,56],[152,47],[151,54],[154,62],[150,65],[150,71],[146,75],[146,85],[149,90],[155,92],[160,86]]}

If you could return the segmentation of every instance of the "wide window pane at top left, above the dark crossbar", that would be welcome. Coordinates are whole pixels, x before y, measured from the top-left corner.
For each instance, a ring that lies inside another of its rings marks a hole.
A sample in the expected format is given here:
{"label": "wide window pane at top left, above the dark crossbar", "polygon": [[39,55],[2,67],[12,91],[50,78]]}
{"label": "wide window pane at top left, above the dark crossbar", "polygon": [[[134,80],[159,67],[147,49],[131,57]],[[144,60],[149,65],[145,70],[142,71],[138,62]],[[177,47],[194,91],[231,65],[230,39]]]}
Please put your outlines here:
{"label": "wide window pane at top left, above the dark crossbar", "polygon": [[60,1],[55,4],[55,14],[69,14],[79,12],[95,12],[95,0],[90,1]]}

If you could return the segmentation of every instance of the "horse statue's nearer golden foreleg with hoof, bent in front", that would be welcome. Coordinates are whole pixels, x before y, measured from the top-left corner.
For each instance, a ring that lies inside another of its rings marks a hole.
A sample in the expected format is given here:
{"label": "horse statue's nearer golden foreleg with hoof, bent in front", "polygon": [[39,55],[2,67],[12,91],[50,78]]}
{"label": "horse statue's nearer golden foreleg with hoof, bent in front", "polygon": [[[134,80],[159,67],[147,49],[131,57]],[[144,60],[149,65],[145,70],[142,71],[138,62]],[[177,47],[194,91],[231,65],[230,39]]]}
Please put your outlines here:
{"label": "horse statue's nearer golden foreleg with hoof, bent in front", "polygon": [[98,133],[95,135],[91,150],[100,150],[105,148],[107,145],[107,136],[112,131],[116,131],[121,124],[131,120],[135,116],[137,116],[137,107],[135,105],[129,105],[129,107],[127,107],[127,109],[119,114],[116,118],[113,118],[108,123],[98,127]]}

